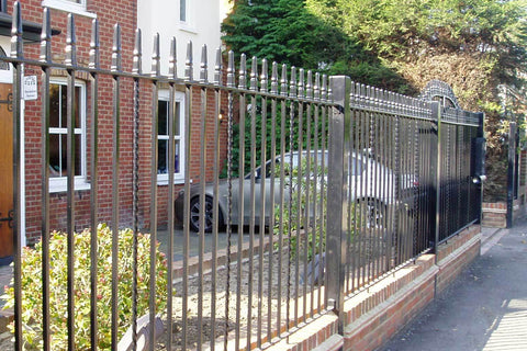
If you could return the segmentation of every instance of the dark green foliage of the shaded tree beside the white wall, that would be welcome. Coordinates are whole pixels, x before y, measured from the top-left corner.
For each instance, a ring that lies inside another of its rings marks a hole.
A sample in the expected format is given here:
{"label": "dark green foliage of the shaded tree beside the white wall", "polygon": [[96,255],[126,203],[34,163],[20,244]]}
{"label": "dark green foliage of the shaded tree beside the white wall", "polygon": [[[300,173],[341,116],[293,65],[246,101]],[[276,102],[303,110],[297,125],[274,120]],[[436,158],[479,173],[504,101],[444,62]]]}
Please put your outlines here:
{"label": "dark green foliage of the shaded tree beside the white wall", "polygon": [[[347,75],[351,79],[404,92],[406,82],[362,45],[310,8],[304,0],[236,1],[222,24],[223,39],[237,54],[269,61]],[[379,71],[382,71],[380,77]]]}

